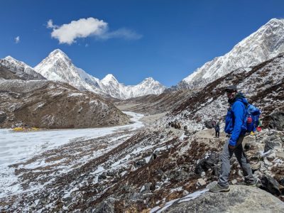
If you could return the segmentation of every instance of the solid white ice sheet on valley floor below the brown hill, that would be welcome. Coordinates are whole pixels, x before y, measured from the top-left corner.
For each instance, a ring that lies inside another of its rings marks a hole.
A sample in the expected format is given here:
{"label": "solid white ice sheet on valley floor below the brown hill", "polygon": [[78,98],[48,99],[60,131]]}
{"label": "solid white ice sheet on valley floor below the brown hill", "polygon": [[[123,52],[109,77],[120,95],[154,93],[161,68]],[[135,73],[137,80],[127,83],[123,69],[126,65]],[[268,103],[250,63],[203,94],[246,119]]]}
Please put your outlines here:
{"label": "solid white ice sheet on valley floor below the brown hill", "polygon": [[[9,168],[9,165],[21,163],[34,155],[74,141],[75,138],[97,138],[114,132],[132,131],[143,126],[143,123],[139,121],[143,114],[130,111],[124,111],[124,113],[131,116],[132,124],[107,128],[56,129],[28,132],[0,129],[0,197],[6,196],[4,188],[17,180],[16,176],[13,175],[13,168]],[[38,162],[38,166],[43,166],[43,162]],[[11,189],[11,191],[14,190],[16,189]]]}

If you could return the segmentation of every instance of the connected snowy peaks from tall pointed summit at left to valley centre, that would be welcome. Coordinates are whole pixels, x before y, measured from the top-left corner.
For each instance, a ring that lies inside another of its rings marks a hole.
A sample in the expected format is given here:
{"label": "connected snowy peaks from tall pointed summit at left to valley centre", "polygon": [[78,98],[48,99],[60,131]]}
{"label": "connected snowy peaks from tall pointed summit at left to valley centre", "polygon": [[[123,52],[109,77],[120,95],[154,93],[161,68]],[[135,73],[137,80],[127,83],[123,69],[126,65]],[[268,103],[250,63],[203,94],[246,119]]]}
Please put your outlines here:
{"label": "connected snowy peaks from tall pointed summit at left to valley centre", "polygon": [[62,50],[54,50],[34,69],[48,80],[67,82],[80,90],[89,90],[97,94],[108,94],[119,99],[143,96],[146,94],[160,94],[165,86],[149,77],[140,84],[125,86],[119,83],[114,75],[107,75],[99,80],[84,70],[75,67]]}

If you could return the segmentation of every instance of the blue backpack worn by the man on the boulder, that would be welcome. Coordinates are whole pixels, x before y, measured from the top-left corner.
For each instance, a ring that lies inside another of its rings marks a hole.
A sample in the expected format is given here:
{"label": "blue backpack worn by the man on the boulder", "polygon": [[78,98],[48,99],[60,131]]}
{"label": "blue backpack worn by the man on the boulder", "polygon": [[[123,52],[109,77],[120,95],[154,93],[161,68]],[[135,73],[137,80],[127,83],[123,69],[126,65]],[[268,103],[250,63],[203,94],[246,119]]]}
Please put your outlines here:
{"label": "blue backpack worn by the man on the boulder", "polygon": [[246,114],[244,116],[243,125],[241,125],[241,131],[243,133],[255,132],[258,126],[259,116],[261,110],[255,107],[253,104],[246,105]]}

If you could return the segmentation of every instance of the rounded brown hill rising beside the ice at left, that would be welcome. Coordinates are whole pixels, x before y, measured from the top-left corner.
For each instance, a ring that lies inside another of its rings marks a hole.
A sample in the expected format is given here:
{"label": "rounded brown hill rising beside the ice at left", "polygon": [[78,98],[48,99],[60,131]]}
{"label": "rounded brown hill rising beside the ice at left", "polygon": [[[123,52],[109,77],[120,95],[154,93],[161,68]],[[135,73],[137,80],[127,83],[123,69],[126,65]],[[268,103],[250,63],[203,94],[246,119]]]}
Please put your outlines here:
{"label": "rounded brown hill rising beside the ice at left", "polygon": [[129,123],[113,104],[92,92],[47,80],[0,82],[0,127],[88,128]]}

